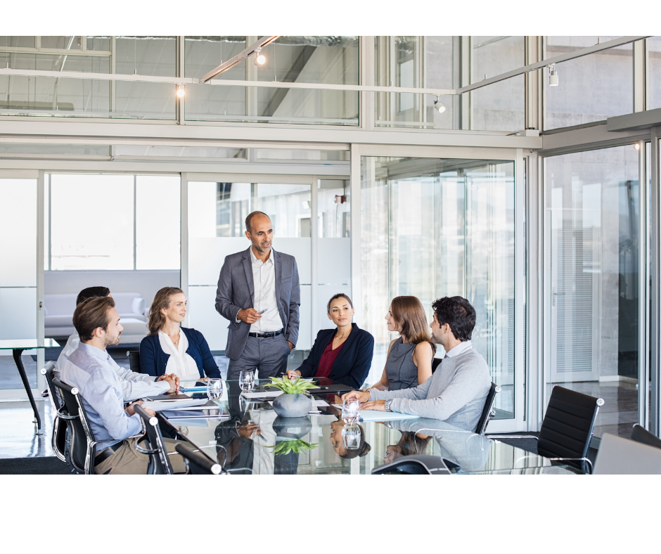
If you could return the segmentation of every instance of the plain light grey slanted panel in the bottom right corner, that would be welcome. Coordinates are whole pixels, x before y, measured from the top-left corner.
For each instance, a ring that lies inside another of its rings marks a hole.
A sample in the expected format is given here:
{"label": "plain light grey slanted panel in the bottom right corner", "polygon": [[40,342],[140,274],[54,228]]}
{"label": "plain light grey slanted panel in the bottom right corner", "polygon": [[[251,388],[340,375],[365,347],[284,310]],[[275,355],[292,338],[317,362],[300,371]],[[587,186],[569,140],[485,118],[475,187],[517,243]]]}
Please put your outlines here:
{"label": "plain light grey slanted panel in the bottom right corner", "polygon": [[661,475],[661,450],[605,433],[593,475]]}

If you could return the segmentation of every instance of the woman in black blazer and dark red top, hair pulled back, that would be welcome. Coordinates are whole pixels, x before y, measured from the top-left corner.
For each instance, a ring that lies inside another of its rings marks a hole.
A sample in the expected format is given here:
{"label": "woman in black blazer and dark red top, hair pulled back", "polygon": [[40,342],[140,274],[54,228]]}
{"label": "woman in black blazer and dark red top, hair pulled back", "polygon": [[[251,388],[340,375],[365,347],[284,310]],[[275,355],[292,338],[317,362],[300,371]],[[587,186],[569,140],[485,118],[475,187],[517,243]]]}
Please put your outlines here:
{"label": "woman in black blazer and dark red top, hair pulled back", "polygon": [[340,292],[328,301],[328,319],[337,328],[317,333],[309,356],[289,378],[327,377],[342,385],[359,388],[367,378],[374,354],[374,337],[352,323],[354,306]]}

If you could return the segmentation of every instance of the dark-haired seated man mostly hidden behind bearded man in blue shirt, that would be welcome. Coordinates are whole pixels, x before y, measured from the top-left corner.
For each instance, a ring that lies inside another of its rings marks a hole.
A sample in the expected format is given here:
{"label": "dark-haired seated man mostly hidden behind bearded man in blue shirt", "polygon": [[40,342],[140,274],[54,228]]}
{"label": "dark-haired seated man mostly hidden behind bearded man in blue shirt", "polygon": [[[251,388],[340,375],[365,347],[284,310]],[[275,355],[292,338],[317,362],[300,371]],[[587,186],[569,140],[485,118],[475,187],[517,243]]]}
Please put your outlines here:
{"label": "dark-haired seated man mostly hidden behind bearded man in blue shirt", "polygon": [[[86,299],[106,296],[113,296],[110,294],[110,289],[108,289],[108,287],[84,288],[78,293],[76,306],[82,304]],[[53,371],[53,375],[56,378],[60,378],[60,373],[62,372],[65,362],[68,360],[69,356],[77,350],[79,344],[80,337],[78,333],[73,333],[58,357],[57,366]],[[108,356],[108,358],[110,365],[113,366],[113,370],[117,373],[117,377],[119,378],[125,402],[148,396],[157,396],[158,394],[164,394],[165,392],[172,392],[169,383],[165,382],[165,378],[172,377],[171,375],[161,375],[159,378],[155,378],[152,375],[143,375],[142,373],[136,373],[135,371],[122,368],[110,356]],[[179,378],[174,376],[174,381],[178,384]]]}

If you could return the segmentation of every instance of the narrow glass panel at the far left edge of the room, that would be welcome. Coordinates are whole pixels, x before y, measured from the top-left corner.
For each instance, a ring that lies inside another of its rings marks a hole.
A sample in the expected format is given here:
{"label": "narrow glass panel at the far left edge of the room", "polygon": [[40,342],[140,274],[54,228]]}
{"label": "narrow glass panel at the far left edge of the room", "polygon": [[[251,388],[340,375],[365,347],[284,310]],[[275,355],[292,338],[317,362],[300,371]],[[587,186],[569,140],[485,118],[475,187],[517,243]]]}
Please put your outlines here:
{"label": "narrow glass panel at the far left edge of the room", "polygon": [[[0,177],[0,340],[37,338],[37,179]],[[32,389],[37,362],[25,352]],[[23,389],[11,350],[0,351],[0,389]]]}

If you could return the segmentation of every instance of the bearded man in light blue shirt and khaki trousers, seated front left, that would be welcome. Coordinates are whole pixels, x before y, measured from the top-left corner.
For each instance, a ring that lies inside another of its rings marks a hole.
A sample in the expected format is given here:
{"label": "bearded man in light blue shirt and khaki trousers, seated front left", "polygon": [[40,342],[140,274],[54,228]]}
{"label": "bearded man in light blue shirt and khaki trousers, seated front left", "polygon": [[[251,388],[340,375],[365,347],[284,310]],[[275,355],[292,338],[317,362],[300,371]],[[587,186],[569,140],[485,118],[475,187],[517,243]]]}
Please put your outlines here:
{"label": "bearded man in light blue shirt and khaki trousers, seated front left", "polygon": [[[144,475],[148,456],[135,449],[142,432],[142,421],[134,404],[124,408],[120,378],[115,373],[106,347],[118,344],[122,333],[120,316],[112,297],[87,299],[76,307],[74,326],[81,338],[79,347],[65,361],[60,380],[76,387],[97,441],[105,441],[96,453],[94,472],[97,474]],[[166,378],[174,390],[174,380]],[[142,404],[141,401],[138,404]],[[155,414],[146,410],[150,416]],[[174,441],[165,439],[168,451],[174,452]],[[105,447],[105,448],[103,448]],[[181,456],[170,456],[175,472],[184,472]]]}

